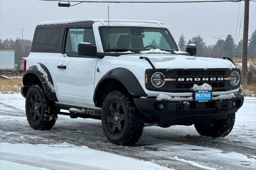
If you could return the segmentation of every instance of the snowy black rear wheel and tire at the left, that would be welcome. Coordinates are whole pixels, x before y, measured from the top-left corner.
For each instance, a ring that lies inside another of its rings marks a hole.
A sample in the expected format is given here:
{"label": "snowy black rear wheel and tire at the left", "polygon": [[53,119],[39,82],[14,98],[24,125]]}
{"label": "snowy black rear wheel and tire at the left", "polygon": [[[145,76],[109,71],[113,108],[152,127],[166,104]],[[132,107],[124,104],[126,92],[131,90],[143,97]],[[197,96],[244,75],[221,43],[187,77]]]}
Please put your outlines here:
{"label": "snowy black rear wheel and tire at the left", "polygon": [[[34,105],[37,104],[39,107],[32,106],[33,102]],[[38,112],[35,112],[35,107]],[[36,113],[38,115],[34,116]],[[28,89],[26,95],[26,116],[30,127],[36,130],[50,130],[57,120],[57,111],[55,111],[53,103],[48,99],[42,87],[38,85],[32,85]]]}

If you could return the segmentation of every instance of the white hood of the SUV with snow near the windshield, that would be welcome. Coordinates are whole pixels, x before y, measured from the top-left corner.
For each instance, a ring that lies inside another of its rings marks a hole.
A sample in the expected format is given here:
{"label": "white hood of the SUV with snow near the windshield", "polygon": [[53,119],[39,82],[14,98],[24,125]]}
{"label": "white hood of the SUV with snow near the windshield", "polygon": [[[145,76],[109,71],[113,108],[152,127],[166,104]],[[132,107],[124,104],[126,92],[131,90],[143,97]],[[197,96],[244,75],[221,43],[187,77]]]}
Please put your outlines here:
{"label": "white hood of the SUV with snow near the windshield", "polygon": [[236,68],[227,59],[194,57],[176,54],[128,54],[120,57],[148,57],[156,69],[213,69],[213,68]]}

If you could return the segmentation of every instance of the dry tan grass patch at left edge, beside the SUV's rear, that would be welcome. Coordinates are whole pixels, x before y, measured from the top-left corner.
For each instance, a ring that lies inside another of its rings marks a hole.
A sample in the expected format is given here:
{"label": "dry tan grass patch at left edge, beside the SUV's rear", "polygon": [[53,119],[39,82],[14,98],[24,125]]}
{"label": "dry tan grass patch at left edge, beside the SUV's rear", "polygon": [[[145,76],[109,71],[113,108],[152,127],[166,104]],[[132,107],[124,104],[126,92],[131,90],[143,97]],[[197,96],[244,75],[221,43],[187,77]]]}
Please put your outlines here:
{"label": "dry tan grass patch at left edge, beside the SUV's rear", "polygon": [[22,77],[6,79],[0,77],[0,93],[20,93],[22,86]]}

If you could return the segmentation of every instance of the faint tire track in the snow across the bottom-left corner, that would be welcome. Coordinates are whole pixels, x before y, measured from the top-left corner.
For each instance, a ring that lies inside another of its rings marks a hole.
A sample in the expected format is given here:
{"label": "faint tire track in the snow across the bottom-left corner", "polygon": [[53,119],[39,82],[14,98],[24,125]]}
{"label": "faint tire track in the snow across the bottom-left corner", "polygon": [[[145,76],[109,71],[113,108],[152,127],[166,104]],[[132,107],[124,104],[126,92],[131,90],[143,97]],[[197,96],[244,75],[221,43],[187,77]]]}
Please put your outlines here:
{"label": "faint tire track in the snow across the bottom-left corner", "polygon": [[47,159],[40,156],[28,156],[24,154],[14,154],[9,152],[0,152],[0,159],[17,162],[20,164],[27,164],[31,166],[37,166],[41,168],[47,168],[51,170],[67,170],[67,169],[90,169],[101,170],[101,168],[88,166],[84,164],[77,164],[72,162],[65,162],[54,159]]}

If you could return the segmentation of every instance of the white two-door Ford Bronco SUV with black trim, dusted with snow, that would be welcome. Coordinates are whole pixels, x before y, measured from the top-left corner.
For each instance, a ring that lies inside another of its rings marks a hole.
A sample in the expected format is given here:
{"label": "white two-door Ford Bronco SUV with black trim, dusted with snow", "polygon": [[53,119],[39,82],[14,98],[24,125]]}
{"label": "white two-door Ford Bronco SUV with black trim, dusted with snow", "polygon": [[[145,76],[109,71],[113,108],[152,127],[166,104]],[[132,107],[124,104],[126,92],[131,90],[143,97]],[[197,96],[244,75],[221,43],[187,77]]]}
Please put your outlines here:
{"label": "white two-door Ford Bronco SUV with black trim, dusted with snow", "polygon": [[180,51],[160,22],[42,22],[21,87],[28,123],[48,130],[58,114],[100,119],[106,138],[123,145],[153,125],[227,136],[244,102],[240,70],[228,57],[193,55],[196,45]]}

